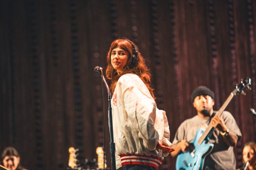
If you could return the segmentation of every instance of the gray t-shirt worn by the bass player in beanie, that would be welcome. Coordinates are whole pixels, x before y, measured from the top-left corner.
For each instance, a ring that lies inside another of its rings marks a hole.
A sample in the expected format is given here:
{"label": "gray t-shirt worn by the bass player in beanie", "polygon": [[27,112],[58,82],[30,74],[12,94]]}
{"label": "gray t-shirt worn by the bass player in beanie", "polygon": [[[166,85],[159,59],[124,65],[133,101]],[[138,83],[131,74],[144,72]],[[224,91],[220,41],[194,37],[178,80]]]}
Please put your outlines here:
{"label": "gray t-shirt worn by the bass player in beanie", "polygon": [[[242,137],[242,134],[234,117],[227,111],[224,111],[221,117],[228,129],[235,133],[239,140]],[[198,128],[206,129],[210,121],[211,117],[201,119],[198,115],[183,121],[179,126],[172,143],[177,144],[180,140],[192,142]],[[235,170],[236,160],[233,147],[228,146],[224,142],[219,130],[213,130],[209,143],[213,143],[214,147],[211,153],[205,158],[204,169],[208,166],[209,170]]]}

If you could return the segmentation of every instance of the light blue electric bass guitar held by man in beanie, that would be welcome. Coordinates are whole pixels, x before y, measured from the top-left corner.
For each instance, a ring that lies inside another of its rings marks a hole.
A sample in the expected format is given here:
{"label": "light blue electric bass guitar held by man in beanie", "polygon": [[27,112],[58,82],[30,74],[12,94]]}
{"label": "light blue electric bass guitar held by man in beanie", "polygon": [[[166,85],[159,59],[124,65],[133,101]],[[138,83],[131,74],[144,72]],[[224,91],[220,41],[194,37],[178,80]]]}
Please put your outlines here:
{"label": "light blue electric bass guitar held by man in beanie", "polygon": [[[235,90],[233,90],[228,96],[227,100],[220,107],[216,115],[221,115],[224,109],[228,106],[229,102],[232,100],[234,95],[244,93],[245,88],[249,88],[251,84],[250,78],[242,79],[241,84],[237,85]],[[204,158],[211,153],[213,150],[213,144],[208,143],[209,138],[213,132],[214,128],[209,124],[209,126],[204,130],[199,128],[194,141],[190,143],[189,151],[181,152],[176,160],[176,170],[202,170],[204,167]]]}

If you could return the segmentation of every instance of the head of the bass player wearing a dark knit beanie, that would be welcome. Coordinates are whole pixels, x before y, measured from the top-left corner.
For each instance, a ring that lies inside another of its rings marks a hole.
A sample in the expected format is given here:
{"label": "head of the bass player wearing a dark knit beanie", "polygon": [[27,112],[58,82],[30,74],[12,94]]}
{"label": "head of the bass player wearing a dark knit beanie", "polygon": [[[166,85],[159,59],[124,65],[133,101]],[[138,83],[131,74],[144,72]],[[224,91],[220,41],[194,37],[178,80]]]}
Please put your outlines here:
{"label": "head of the bass player wearing a dark knit beanie", "polygon": [[198,86],[191,94],[191,102],[202,117],[211,116],[213,113],[214,93],[206,86]]}

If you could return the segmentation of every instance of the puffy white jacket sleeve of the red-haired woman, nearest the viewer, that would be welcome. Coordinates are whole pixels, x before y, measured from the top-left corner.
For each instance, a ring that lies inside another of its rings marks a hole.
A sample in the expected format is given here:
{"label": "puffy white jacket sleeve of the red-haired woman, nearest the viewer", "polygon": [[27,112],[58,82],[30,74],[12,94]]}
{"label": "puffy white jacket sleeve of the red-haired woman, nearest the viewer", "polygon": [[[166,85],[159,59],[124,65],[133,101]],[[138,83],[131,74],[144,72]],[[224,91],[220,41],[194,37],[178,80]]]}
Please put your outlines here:
{"label": "puffy white jacket sleeve of the red-haired woman, nearest the viewer", "polygon": [[[117,86],[120,86],[123,104],[133,129],[143,140],[149,150],[155,150],[159,142],[159,133],[154,127],[156,121],[156,102],[147,87],[138,77],[123,75]],[[164,126],[164,122],[163,122]],[[164,129],[162,129],[164,130]]]}

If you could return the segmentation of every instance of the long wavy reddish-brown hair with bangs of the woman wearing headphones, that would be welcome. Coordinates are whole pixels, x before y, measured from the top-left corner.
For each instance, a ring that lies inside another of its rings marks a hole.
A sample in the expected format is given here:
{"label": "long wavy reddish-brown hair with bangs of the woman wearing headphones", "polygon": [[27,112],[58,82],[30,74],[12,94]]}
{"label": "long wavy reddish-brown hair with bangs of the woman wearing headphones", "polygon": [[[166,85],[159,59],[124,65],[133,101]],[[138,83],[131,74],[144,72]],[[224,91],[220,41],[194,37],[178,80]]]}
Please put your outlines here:
{"label": "long wavy reddish-brown hair with bangs of the woman wearing headphones", "polygon": [[[113,49],[115,49],[117,47],[119,47],[120,49],[123,49],[128,54],[128,61],[119,74],[111,65],[111,52]],[[132,64],[132,55],[133,55],[134,49],[137,50],[136,65]],[[108,63],[108,65],[107,65],[107,69],[106,69],[106,76],[108,79],[111,80],[110,89],[111,89],[112,94],[114,93],[118,79],[122,75],[125,75],[127,73],[133,73],[133,74],[139,76],[140,79],[142,79],[142,81],[145,83],[145,85],[149,89],[150,94],[155,99],[155,96],[153,93],[154,89],[150,86],[151,74],[145,64],[145,59],[142,57],[142,55],[138,51],[138,47],[133,42],[131,42],[128,39],[114,40],[111,43],[111,47],[109,48],[109,51],[107,54],[107,63]]]}

